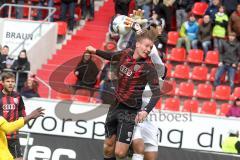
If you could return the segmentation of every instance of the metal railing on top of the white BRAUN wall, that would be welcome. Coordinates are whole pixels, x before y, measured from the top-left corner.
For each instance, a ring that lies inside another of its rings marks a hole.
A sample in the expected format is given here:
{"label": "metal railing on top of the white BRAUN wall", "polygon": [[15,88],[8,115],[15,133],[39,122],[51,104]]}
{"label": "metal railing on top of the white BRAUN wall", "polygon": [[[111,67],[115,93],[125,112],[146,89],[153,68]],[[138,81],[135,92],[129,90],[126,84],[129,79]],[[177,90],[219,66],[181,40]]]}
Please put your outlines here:
{"label": "metal railing on top of the white BRAUN wall", "polygon": [[[50,22],[50,18],[51,16],[53,16],[53,14],[56,12],[56,8],[54,7],[41,7],[41,6],[31,6],[31,5],[18,5],[18,4],[9,4],[9,3],[5,3],[0,7],[0,11],[4,8],[4,7],[8,7],[8,18],[11,18],[12,15],[12,8],[13,7],[19,7],[19,8],[28,8],[29,12],[28,12],[28,20],[31,20],[31,13],[32,13],[32,9],[41,9],[41,10],[48,10],[48,15],[47,17],[41,21],[41,23],[31,32],[31,34],[34,34],[35,32],[37,32],[39,30],[39,36],[41,36],[42,33],[42,25],[46,22]],[[16,52],[20,47],[22,47],[22,49],[25,49],[25,42],[27,39],[24,39],[15,49],[13,49],[9,56],[11,56],[14,52]]]}

